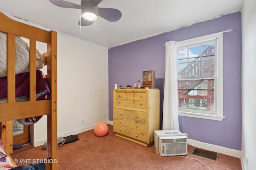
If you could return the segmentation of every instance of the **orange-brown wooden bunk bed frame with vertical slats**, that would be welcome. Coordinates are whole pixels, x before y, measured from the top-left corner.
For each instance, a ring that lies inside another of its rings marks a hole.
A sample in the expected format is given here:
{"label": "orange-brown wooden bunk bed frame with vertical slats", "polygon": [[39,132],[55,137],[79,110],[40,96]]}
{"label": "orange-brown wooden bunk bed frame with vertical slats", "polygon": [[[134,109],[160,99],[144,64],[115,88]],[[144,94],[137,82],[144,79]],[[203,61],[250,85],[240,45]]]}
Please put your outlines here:
{"label": "orange-brown wooden bunk bed frame with vertical slats", "polygon": [[[7,35],[7,102],[0,103],[2,143],[6,153],[12,153],[12,120],[47,115],[47,159],[57,160],[57,33],[46,31],[0,13],[0,32]],[[16,102],[15,38],[29,39],[29,101]],[[50,94],[47,100],[36,99],[36,42],[47,44],[43,54],[47,65]],[[49,161],[52,162],[52,161]],[[46,164],[46,169],[58,169],[58,161]]]}

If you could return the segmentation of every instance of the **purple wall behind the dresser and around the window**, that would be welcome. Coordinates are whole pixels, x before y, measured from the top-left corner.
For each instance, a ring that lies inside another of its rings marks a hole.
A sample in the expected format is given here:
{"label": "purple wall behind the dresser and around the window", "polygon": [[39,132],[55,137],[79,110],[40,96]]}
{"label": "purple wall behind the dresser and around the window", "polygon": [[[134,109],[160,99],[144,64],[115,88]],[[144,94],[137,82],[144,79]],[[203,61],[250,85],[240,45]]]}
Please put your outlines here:
{"label": "purple wall behind the dresser and around the window", "polygon": [[156,71],[156,88],[161,90],[162,118],[165,74],[164,43],[170,40],[182,41],[232,28],[232,32],[223,34],[223,110],[226,118],[222,121],[214,121],[179,116],[179,125],[180,131],[188,133],[189,139],[241,150],[241,27],[241,13],[236,12],[109,49],[109,120],[113,120],[114,83],[118,83],[118,86],[122,84],[124,87],[133,85],[138,80],[142,82],[142,71],[147,70]]}

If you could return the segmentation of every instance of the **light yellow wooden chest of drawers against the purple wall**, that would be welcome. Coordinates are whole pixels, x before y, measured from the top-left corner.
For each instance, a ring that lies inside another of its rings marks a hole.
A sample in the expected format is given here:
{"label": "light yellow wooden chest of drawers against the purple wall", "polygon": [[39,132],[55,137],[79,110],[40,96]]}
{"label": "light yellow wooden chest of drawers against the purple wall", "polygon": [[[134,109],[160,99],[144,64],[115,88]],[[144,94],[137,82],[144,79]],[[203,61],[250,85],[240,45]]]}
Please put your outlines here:
{"label": "light yellow wooden chest of drawers against the purple wall", "polygon": [[113,131],[118,137],[148,146],[160,130],[160,90],[114,89]]}

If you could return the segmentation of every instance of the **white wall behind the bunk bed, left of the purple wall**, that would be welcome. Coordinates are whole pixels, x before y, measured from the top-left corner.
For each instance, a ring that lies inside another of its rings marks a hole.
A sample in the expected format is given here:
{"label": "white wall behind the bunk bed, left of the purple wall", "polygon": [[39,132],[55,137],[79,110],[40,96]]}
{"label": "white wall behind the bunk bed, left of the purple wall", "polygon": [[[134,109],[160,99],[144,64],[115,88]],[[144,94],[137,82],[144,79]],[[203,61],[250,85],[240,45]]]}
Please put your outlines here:
{"label": "white wall behind the bunk bed, left of the purple wall", "polygon": [[[57,45],[58,137],[66,137],[108,121],[108,48],[59,32]],[[46,141],[46,123],[34,124],[34,146]]]}

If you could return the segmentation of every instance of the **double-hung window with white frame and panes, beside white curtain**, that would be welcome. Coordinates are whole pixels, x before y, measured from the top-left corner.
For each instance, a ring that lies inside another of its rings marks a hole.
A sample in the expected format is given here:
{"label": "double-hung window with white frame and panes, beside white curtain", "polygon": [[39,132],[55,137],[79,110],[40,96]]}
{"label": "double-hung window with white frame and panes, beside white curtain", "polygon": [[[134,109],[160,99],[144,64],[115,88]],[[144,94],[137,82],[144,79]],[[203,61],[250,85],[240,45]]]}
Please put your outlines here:
{"label": "double-hung window with white frame and panes, beside white curtain", "polygon": [[221,121],[222,33],[178,42],[179,115]]}

